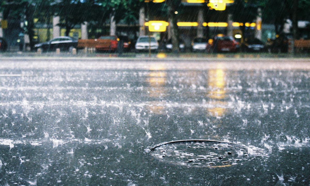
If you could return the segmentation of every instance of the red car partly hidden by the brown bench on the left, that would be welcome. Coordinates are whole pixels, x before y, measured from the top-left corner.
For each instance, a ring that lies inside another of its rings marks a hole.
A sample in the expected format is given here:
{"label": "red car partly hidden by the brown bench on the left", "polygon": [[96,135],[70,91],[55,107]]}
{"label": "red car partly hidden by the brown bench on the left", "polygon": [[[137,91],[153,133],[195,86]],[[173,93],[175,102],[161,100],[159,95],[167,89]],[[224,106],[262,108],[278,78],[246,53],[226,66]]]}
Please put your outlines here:
{"label": "red car partly hidden by the brown bench on the left", "polygon": [[120,40],[117,36],[101,36],[99,39],[102,41],[96,45],[96,51],[117,51],[118,41]]}

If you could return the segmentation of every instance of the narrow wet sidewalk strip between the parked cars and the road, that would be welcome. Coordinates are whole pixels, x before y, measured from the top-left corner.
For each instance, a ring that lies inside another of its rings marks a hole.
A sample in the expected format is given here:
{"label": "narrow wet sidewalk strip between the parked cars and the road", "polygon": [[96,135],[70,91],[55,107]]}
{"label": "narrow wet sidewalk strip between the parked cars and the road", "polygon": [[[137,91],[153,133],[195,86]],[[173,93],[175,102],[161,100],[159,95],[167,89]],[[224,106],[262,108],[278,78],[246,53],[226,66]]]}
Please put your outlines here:
{"label": "narrow wet sidewalk strip between the parked cars and the road", "polygon": [[[36,52],[3,52],[0,53],[0,58],[7,59],[7,58],[19,58],[19,59],[60,59],[60,58],[78,58],[78,59],[85,59],[85,58],[92,58],[92,59],[150,59],[148,57],[148,53],[83,53],[78,52],[76,55],[70,54],[69,52],[61,52],[60,54],[56,54],[55,52],[44,52],[42,54],[38,54]],[[151,59],[188,59],[188,60],[210,60],[210,59],[259,59],[259,58],[309,58],[310,54],[273,54],[273,53],[219,53],[219,54],[209,54],[209,53],[179,53],[179,55],[173,53],[152,53]]]}

